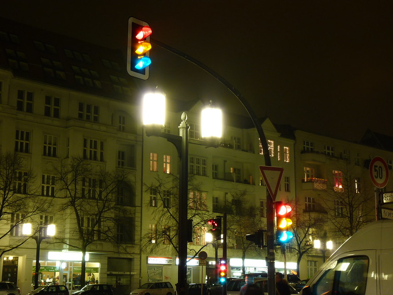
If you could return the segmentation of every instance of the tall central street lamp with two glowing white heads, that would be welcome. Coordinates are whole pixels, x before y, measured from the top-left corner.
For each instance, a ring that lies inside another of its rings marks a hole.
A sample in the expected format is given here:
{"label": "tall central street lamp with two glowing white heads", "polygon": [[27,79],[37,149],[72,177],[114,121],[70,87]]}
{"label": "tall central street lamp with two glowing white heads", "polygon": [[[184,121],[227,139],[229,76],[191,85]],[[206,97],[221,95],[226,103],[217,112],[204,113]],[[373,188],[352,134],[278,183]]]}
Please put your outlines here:
{"label": "tall central street lamp with two glowing white heads", "polygon": [[[202,130],[204,132],[202,132],[202,137],[221,137],[222,122],[217,121],[217,119],[222,118],[221,110],[207,106],[202,112],[204,114],[204,118],[210,118],[209,121],[204,119],[201,122]],[[215,118],[211,117],[212,114],[215,116]],[[190,128],[187,123],[187,115],[185,112],[183,112],[181,115],[182,121],[179,125],[180,135],[161,132],[161,128],[165,124],[165,95],[157,92],[151,92],[145,94],[143,97],[142,118],[143,125],[146,126],[146,135],[166,138],[175,146],[179,156],[179,265],[176,292],[178,295],[187,295],[188,145]],[[205,124],[208,124],[208,127],[206,127]],[[147,127],[147,125],[149,125],[149,127]],[[213,128],[217,126],[218,128]],[[209,131],[214,132],[206,133],[205,130],[207,129],[210,129]]]}

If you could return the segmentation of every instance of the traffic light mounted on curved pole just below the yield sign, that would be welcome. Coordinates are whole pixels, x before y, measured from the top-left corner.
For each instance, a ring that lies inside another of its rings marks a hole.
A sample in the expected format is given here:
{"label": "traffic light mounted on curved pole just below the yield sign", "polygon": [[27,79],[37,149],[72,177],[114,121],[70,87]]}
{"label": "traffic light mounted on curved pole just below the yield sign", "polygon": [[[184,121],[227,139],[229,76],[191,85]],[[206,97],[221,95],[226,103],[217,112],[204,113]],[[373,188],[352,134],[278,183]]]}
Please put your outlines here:
{"label": "traffic light mounted on curved pole just below the yield sign", "polygon": [[290,218],[290,212],[292,211],[292,207],[282,202],[276,202],[275,205],[277,243],[284,244],[289,242],[289,240],[293,237],[293,234],[288,230],[288,227],[292,225],[292,220]]}

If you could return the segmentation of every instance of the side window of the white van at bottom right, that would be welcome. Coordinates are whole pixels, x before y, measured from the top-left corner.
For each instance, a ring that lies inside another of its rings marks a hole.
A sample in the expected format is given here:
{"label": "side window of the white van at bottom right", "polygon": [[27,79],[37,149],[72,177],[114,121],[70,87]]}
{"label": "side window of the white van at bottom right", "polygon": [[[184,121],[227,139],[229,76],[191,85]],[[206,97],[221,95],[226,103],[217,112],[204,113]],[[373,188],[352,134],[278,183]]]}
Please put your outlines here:
{"label": "side window of the white van at bottom right", "polygon": [[312,287],[312,293],[365,295],[367,275],[366,256],[340,258],[323,269],[321,277]]}

